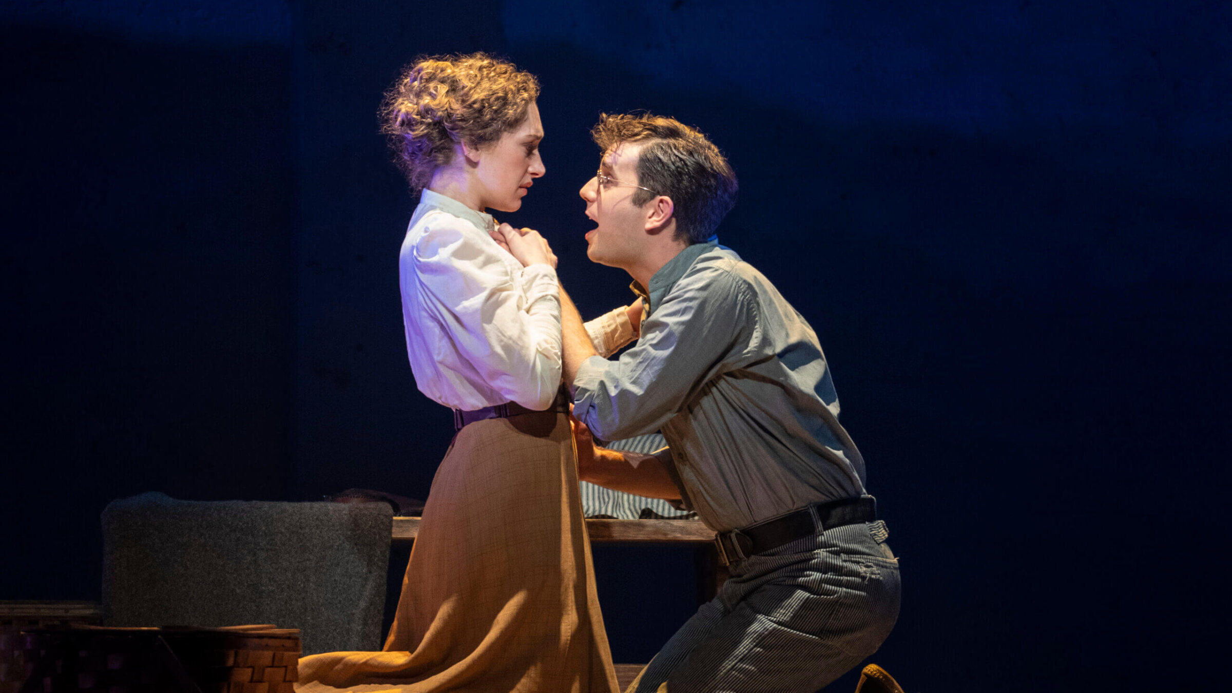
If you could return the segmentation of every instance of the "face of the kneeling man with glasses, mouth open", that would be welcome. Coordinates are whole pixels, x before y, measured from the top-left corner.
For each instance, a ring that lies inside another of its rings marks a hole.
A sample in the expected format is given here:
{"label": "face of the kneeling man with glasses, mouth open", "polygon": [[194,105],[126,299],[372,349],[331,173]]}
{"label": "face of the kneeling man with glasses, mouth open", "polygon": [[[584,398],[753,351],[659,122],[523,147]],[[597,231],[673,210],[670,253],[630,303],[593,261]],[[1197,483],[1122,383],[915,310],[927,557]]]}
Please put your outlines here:
{"label": "face of the kneeling man with glasses, mouth open", "polygon": [[[620,182],[641,185],[637,179],[637,158],[642,146],[622,142],[604,153],[599,173]],[[637,207],[633,185],[601,185],[594,176],[579,194],[586,201],[586,216],[599,226],[586,232],[586,256],[590,261],[628,270],[644,254],[649,239],[646,219],[650,205]]]}

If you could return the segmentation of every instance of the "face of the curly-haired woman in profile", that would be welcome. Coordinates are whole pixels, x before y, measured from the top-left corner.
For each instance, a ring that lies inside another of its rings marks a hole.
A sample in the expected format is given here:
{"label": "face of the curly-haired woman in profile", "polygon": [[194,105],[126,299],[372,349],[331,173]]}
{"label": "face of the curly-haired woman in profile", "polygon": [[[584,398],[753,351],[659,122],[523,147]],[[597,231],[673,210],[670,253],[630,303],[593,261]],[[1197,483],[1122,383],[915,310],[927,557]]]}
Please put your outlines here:
{"label": "face of the curly-haired woman in profile", "polygon": [[543,123],[538,118],[538,106],[532,102],[520,126],[479,149],[476,178],[483,208],[515,212],[522,206],[522,197],[533,180],[546,170],[538,155],[541,139]]}

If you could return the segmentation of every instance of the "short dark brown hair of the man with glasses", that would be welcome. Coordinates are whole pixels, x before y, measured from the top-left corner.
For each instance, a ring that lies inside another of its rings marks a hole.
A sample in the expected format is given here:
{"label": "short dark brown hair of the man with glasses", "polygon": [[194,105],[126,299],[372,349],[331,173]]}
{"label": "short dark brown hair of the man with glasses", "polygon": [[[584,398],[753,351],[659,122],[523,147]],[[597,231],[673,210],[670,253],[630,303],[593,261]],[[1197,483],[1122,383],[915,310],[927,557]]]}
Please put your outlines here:
{"label": "short dark brown hair of the man with glasses", "polygon": [[604,155],[622,142],[642,144],[637,179],[650,190],[638,190],[633,203],[641,207],[657,195],[670,197],[676,238],[690,245],[713,236],[736,205],[739,184],[727,159],[705,134],[675,118],[601,113],[590,136]]}

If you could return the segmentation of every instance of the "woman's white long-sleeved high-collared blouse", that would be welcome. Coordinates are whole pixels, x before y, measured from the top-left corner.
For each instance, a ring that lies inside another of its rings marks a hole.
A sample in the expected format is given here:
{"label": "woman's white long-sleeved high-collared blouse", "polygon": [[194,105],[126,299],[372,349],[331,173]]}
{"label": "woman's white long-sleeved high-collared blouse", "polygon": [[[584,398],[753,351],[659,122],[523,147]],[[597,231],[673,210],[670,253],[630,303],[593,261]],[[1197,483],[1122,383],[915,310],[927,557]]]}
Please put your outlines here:
{"label": "woman's white long-sleeved high-collared blouse", "polygon": [[[455,409],[516,402],[546,409],[561,386],[561,284],[522,268],[496,222],[424,190],[402,243],[402,317],[420,392]],[[623,308],[586,323],[604,355],[633,338]]]}

